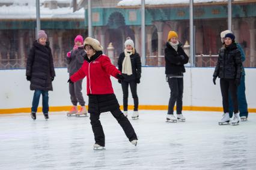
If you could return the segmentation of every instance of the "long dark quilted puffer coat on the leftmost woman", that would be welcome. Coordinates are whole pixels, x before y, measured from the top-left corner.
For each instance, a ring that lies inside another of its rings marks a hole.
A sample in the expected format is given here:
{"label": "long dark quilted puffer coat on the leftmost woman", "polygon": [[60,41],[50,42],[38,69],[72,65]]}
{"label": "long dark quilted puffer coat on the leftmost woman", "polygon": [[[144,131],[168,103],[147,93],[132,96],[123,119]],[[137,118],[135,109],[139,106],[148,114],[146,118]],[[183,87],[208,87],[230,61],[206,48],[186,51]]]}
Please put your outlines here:
{"label": "long dark quilted puffer coat on the leftmost woman", "polygon": [[26,62],[26,76],[31,77],[30,90],[52,90],[51,77],[55,77],[55,71],[49,42],[33,43]]}

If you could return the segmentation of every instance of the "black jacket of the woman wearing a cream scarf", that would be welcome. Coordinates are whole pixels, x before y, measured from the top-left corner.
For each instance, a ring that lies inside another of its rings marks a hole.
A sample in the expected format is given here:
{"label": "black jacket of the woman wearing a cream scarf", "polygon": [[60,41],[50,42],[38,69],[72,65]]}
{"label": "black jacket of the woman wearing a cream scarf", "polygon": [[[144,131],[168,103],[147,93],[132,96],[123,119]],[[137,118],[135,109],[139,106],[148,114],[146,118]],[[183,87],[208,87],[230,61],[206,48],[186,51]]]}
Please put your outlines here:
{"label": "black jacket of the woman wearing a cream scarf", "polygon": [[[122,72],[122,66],[123,66],[123,60],[124,60],[125,54],[124,52],[119,55],[118,58],[118,69]],[[141,78],[141,57],[138,53],[135,53],[130,55],[130,62],[132,63],[132,75],[123,74],[124,81],[135,81],[136,79]]]}

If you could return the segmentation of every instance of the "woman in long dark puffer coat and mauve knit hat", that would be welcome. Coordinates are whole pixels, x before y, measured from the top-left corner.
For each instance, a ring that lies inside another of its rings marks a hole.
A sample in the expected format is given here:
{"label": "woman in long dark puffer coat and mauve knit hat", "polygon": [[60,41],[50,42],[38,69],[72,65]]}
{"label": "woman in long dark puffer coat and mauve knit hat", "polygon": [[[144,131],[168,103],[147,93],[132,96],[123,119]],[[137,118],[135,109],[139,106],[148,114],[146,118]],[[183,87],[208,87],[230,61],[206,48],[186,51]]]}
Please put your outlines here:
{"label": "woman in long dark puffer coat and mauve knit hat", "polygon": [[47,35],[43,30],[38,31],[38,40],[33,43],[26,62],[26,80],[30,81],[30,90],[35,90],[32,101],[31,117],[36,119],[40,96],[43,96],[44,118],[49,119],[49,96],[52,81],[55,77],[52,50],[49,47]]}

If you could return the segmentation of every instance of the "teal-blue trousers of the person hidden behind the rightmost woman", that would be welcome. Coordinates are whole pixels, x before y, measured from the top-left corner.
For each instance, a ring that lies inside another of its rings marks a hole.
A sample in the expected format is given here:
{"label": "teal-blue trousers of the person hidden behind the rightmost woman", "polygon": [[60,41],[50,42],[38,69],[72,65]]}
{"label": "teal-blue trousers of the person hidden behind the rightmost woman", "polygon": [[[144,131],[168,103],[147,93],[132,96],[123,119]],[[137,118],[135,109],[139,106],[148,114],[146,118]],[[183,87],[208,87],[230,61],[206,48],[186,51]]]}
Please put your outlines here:
{"label": "teal-blue trousers of the person hidden behind the rightmost woman", "polygon": [[[238,98],[238,108],[239,108],[240,116],[248,117],[248,105],[247,105],[246,96],[245,96],[245,75],[242,75],[240,86],[237,87],[237,98]],[[229,103],[230,117],[232,117],[234,109],[233,109],[233,102],[231,101],[230,95],[228,95],[228,103]]]}

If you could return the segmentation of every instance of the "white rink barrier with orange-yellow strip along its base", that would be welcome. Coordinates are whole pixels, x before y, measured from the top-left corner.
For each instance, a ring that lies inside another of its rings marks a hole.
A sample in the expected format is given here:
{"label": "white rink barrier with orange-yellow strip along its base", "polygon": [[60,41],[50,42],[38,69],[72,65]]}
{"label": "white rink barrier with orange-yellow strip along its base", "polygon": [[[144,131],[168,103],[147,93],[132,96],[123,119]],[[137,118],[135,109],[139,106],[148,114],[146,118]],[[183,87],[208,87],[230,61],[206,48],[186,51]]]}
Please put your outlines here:
{"label": "white rink barrier with orange-yellow strip along its base", "polygon": [[[212,75],[215,68],[186,68],[184,73],[183,106],[186,110],[217,110],[221,111],[222,97],[219,78],[216,86]],[[246,98],[250,112],[256,112],[256,69],[246,68],[245,85]],[[53,92],[49,92],[50,108],[62,109],[72,105],[69,95],[69,74],[67,68],[55,68],[56,77],[53,81]],[[29,112],[32,104],[33,91],[29,90],[29,81],[26,80],[25,69],[0,70],[0,113]],[[111,77],[115,95],[120,105],[123,105],[123,92],[117,79]],[[83,90],[86,105],[86,79],[83,81]],[[139,108],[166,109],[169,101],[169,86],[165,81],[164,67],[142,67],[141,83],[138,84]],[[40,99],[41,100],[41,99]],[[132,108],[133,99],[129,90],[129,108]],[[41,101],[40,105],[41,107]],[[22,110],[23,108],[23,110]],[[26,108],[26,110],[24,110]],[[15,111],[11,111],[14,110]],[[64,109],[65,110],[65,109]],[[197,109],[195,109],[197,110]],[[52,111],[58,111],[55,109]]]}

